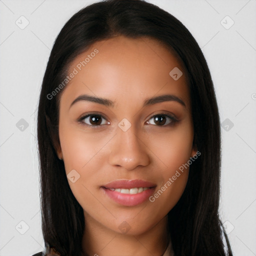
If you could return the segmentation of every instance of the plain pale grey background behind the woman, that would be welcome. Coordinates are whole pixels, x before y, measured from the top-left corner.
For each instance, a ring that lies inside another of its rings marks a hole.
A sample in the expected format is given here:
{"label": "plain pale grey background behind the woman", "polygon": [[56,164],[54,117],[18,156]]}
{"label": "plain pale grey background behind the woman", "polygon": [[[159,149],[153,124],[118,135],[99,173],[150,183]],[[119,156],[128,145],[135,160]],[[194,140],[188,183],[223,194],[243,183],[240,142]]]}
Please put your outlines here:
{"label": "plain pale grey background behind the woman", "polygon": [[[61,27],[92,2],[0,0],[0,256],[44,248],[36,147],[40,84]],[[205,55],[223,123],[220,216],[234,255],[256,255],[256,0],[149,2],[177,17]]]}

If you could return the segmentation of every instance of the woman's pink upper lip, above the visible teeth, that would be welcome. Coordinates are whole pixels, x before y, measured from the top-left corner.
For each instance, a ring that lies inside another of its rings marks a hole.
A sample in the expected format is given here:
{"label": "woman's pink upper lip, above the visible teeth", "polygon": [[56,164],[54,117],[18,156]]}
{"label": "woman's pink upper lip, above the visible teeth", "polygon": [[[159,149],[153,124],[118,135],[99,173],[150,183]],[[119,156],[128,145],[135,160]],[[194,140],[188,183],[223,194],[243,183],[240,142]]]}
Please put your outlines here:
{"label": "woman's pink upper lip, above the visible teeth", "polygon": [[156,184],[142,179],[117,179],[103,185],[103,187],[105,188],[132,188],[154,186],[156,186]]}

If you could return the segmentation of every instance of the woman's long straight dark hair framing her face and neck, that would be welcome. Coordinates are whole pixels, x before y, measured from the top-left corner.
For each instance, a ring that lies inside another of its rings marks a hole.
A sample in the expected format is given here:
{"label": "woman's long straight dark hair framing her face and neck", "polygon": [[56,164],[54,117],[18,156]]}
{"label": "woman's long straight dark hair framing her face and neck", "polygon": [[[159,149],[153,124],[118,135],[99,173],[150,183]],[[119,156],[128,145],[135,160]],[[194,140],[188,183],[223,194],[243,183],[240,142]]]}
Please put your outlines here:
{"label": "woman's long straight dark hair framing her face and neck", "polygon": [[[62,256],[82,255],[83,209],[58,159],[59,98],[49,94],[67,75],[70,62],[94,42],[114,36],[147,36],[162,42],[182,60],[189,80],[194,144],[201,153],[190,165],[185,190],[168,213],[175,255],[225,255],[218,214],[220,190],[220,123],[215,92],[205,58],[187,28],[163,9],[143,0],[105,0],[75,13],[51,50],[38,105],[42,232],[46,247]],[[67,85],[68,86],[68,85]],[[227,235],[228,252],[232,252]]]}

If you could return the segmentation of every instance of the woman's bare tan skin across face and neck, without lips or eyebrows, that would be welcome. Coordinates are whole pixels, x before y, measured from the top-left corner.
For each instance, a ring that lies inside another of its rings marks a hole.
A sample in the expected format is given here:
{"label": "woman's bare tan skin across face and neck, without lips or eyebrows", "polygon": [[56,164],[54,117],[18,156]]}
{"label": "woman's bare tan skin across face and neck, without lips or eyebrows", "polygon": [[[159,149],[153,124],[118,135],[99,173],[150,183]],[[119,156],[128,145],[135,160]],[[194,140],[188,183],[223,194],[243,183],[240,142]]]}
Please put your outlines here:
{"label": "woman's bare tan skin across face and neck, without lips or eyebrows", "polygon": [[[185,70],[158,41],[117,36],[78,55],[69,73],[95,48],[99,52],[66,85],[59,105],[57,154],[66,174],[75,169],[80,175],[68,183],[84,210],[84,254],[160,256],[168,242],[167,213],[184,191],[188,168],[154,202],[135,206],[116,203],[100,186],[143,179],[155,183],[157,191],[196,153]],[[183,72],[178,80],[169,75],[174,67]],[[114,106],[80,100],[70,107],[81,94],[107,98]],[[169,100],[143,107],[146,98],[163,94],[179,97],[185,106]],[[90,117],[77,121],[95,112],[102,116],[98,126]],[[153,115],[161,113],[178,121],[166,117],[159,125]],[[126,131],[117,125],[123,118],[131,124]],[[126,233],[118,228],[123,221],[130,227]]]}

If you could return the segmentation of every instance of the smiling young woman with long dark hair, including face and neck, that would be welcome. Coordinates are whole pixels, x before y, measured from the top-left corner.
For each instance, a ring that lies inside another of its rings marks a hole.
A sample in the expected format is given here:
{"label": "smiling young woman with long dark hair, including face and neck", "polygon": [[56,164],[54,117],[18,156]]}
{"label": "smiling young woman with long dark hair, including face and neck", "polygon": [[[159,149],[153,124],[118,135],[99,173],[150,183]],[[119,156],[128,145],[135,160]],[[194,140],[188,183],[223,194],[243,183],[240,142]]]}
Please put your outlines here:
{"label": "smiling young woman with long dark hair, including face and neck", "polygon": [[232,255],[213,84],[171,14],[142,0],[74,14],[53,45],[37,125],[36,255]]}

